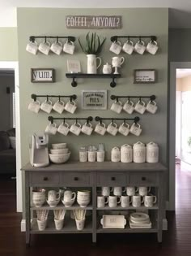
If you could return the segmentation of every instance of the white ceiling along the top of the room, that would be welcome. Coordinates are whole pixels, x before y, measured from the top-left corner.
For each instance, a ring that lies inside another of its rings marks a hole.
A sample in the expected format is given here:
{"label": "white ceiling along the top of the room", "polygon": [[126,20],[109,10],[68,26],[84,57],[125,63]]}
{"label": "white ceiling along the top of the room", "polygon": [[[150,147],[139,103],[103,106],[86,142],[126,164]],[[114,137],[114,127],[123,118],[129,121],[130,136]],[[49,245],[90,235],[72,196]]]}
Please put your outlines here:
{"label": "white ceiling along the top of the room", "polygon": [[[2,7],[62,7],[62,8],[134,8],[169,7],[169,26],[171,28],[191,28],[191,0],[0,0]],[[10,17],[10,16],[9,16]]]}

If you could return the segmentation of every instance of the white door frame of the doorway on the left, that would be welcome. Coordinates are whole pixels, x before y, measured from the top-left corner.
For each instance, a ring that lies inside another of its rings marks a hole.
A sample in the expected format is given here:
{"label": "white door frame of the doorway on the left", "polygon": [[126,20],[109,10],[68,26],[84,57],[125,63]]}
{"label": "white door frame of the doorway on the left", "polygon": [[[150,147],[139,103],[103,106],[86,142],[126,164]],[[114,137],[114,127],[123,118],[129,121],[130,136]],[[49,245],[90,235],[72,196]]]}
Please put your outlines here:
{"label": "white door frame of the doorway on the left", "polygon": [[0,69],[15,70],[15,124],[16,124],[16,202],[17,211],[23,211],[22,176],[20,155],[20,108],[19,108],[19,63],[18,61],[0,61]]}

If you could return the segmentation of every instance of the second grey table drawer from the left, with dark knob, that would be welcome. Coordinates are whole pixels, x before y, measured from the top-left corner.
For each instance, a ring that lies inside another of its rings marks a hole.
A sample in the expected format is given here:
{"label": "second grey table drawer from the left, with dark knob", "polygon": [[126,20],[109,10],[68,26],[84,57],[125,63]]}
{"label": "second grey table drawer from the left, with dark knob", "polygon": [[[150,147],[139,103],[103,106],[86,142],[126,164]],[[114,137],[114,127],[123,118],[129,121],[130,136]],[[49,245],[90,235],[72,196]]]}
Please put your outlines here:
{"label": "second grey table drawer from the left, with dark knob", "polygon": [[89,172],[70,172],[62,174],[62,185],[66,186],[89,186],[91,185],[91,174]]}

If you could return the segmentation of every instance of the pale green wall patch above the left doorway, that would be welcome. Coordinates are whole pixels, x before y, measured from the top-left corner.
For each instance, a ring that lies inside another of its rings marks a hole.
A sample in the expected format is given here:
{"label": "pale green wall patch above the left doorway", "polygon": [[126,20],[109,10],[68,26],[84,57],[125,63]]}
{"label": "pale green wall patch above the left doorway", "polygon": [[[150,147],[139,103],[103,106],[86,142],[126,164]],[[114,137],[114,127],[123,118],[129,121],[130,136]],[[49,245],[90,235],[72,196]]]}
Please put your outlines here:
{"label": "pale green wall patch above the left doorway", "polygon": [[0,61],[17,61],[17,28],[0,28],[0,38]]}

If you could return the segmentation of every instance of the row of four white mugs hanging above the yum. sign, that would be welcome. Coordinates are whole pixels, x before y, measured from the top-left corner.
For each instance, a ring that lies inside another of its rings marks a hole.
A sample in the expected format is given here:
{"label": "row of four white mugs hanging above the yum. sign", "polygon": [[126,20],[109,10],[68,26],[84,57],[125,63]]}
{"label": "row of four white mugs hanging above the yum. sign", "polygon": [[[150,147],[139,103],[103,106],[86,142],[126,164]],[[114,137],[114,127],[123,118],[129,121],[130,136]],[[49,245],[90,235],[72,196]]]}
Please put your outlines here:
{"label": "row of four white mugs hanging above the yum. sign", "polygon": [[62,45],[62,42],[58,40],[54,41],[53,43],[45,40],[40,42],[39,46],[36,41],[29,41],[26,47],[26,50],[30,54],[34,55],[36,55],[38,51],[45,55],[49,55],[50,51],[57,55],[60,55],[62,51],[66,54],[74,54],[74,49],[74,42],[69,40],[67,40],[66,43],[64,43],[64,45]]}

